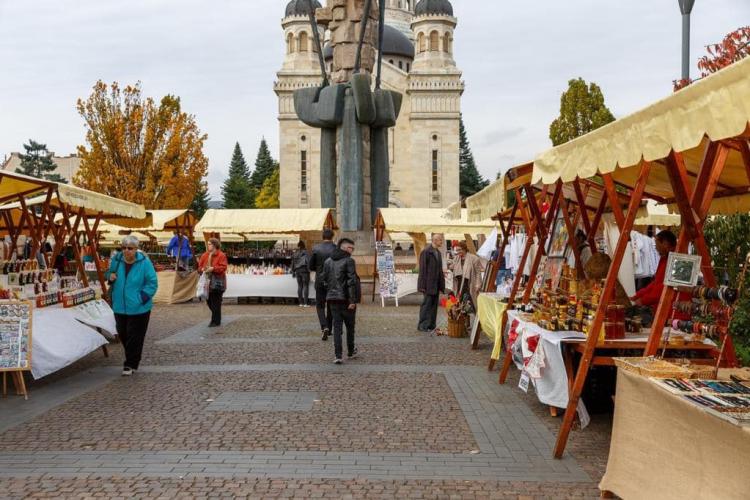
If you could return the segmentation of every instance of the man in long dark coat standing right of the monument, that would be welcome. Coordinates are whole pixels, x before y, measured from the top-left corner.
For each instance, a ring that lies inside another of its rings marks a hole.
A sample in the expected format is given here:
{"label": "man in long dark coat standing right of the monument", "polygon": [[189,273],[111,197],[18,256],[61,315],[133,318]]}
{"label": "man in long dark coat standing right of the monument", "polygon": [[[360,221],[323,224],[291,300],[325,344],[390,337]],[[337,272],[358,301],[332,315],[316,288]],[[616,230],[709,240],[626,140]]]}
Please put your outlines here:
{"label": "man in long dark coat standing right of the monument", "polygon": [[419,309],[420,332],[431,332],[437,326],[437,308],[441,293],[445,293],[445,275],[443,274],[443,235],[433,234],[432,243],[419,254],[419,280],[417,289],[424,294],[422,307]]}

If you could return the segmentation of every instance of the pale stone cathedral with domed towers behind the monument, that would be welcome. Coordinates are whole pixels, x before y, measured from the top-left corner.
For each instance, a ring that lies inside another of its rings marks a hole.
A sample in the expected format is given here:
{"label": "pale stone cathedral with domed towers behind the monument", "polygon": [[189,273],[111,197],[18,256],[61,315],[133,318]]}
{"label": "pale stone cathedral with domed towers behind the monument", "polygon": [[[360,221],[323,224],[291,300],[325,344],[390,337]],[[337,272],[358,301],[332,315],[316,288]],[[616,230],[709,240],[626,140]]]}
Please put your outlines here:
{"label": "pale stone cathedral with domed towers behind the monument", "polygon": [[[320,7],[314,0],[313,5]],[[386,0],[383,87],[404,96],[390,129],[391,207],[442,208],[459,200],[459,119],[464,83],[453,59],[458,20],[449,0]],[[277,73],[282,208],[320,207],[320,131],[297,118],[292,93],[321,83],[308,1],[292,0],[281,21],[286,55]],[[333,51],[319,27],[331,71]]]}

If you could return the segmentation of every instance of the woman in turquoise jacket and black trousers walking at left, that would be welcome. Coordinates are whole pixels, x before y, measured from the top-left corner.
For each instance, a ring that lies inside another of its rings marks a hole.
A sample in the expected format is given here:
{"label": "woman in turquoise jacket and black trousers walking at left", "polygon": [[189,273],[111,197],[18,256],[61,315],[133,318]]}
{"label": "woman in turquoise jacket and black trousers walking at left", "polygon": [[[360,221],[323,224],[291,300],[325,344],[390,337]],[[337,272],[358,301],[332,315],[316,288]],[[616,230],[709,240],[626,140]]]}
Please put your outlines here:
{"label": "woman in turquoise jacket and black trousers walking at left", "polygon": [[156,270],[146,254],[138,250],[138,238],[130,235],[122,240],[122,252],[112,258],[107,274],[117,335],[125,349],[122,374],[127,377],[141,363],[152,299],[158,286]]}

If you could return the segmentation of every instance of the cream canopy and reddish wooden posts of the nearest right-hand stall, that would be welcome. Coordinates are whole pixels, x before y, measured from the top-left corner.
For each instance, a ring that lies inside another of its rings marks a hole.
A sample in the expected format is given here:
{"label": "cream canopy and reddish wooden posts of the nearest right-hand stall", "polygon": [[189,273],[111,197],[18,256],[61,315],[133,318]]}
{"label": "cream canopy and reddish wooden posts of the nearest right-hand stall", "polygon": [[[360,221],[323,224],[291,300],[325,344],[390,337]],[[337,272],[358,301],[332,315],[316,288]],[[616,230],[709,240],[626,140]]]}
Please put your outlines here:
{"label": "cream canopy and reddish wooden posts of the nearest right-hand stall", "polygon": [[[676,253],[685,254],[689,243],[693,243],[700,257],[699,267],[705,286],[696,288],[694,283],[688,283],[681,289],[702,303],[675,303],[676,289],[671,285],[664,286],[644,355],[657,354],[660,347],[672,343],[673,338],[685,343],[688,338],[695,341],[714,335],[721,345],[716,353],[717,361],[728,365],[736,363],[726,325],[722,326],[719,319],[716,323],[698,320],[681,323],[673,318],[677,311],[691,313],[696,306],[710,311],[716,318],[726,317],[731,311],[732,297],[726,294],[727,289],[718,287],[703,236],[703,225],[711,214],[732,214],[750,209],[748,103],[750,59],[735,63],[637,113],[551,149],[535,161],[531,184],[542,184],[554,190],[553,207],[559,203],[563,186],[594,179],[605,187],[606,198],[620,229],[612,265],[599,290],[598,303],[588,327],[593,334],[587,335],[582,346],[581,360],[570,387],[567,410],[555,447],[556,457],[564,452],[584,383],[596,358],[599,332],[609,319],[608,307],[615,294],[617,273],[629,244],[630,231],[645,199],[668,205],[680,214],[682,226]],[[626,205],[618,200],[620,193],[627,195]],[[697,265],[690,270],[697,272]],[[669,272],[667,276],[674,279],[683,274],[671,275]],[[685,304],[687,311],[683,309]],[[665,328],[667,320],[668,329]],[[639,479],[633,478],[635,482]]]}

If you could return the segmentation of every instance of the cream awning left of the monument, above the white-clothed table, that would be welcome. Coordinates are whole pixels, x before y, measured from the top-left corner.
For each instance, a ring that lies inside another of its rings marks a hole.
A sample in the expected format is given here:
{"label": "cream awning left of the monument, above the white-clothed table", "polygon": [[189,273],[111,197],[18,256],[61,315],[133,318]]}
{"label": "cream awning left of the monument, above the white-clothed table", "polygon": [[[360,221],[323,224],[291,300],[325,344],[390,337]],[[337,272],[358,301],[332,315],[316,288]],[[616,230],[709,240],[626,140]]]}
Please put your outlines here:
{"label": "cream awning left of the monument, above the white-clothed table", "polygon": [[[335,225],[327,208],[210,209],[196,232],[219,234],[299,234]],[[252,238],[248,238],[252,239]]]}

